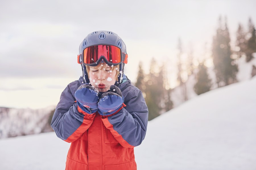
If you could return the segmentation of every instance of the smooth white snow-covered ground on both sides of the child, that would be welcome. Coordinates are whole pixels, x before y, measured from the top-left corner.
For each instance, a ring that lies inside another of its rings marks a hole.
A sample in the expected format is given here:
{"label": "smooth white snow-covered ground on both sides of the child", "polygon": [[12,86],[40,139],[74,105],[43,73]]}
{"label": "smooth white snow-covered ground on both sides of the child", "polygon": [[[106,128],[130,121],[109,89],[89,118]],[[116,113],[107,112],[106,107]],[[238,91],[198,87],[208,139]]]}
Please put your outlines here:
{"label": "smooth white snow-covered ground on both sides of the child", "polygon": [[[255,170],[256,77],[218,88],[148,123],[138,170]],[[0,169],[65,169],[69,143],[54,132],[0,140]]]}

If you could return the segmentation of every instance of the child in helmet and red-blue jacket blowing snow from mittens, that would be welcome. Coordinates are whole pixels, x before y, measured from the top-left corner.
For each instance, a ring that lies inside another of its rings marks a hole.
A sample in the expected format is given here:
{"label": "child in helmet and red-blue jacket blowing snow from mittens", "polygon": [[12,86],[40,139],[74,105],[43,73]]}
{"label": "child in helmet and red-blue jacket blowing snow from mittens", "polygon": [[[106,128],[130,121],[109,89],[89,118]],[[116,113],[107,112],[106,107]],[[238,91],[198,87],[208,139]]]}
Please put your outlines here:
{"label": "child in helmet and red-blue jacket blowing snow from mittens", "polygon": [[137,169],[133,148],[145,137],[148,108],[123,74],[125,43],[111,31],[95,31],[77,58],[83,75],[62,92],[51,122],[56,135],[71,143],[66,169]]}

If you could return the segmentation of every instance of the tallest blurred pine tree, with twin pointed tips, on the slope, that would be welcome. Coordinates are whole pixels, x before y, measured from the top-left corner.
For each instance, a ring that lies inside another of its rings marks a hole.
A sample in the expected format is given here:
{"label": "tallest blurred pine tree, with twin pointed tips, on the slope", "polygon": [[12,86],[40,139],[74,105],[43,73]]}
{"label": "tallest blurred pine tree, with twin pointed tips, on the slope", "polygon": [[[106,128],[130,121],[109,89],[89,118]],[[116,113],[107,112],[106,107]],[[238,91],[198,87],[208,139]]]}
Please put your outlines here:
{"label": "tallest blurred pine tree, with twin pointed tips, on the slope", "polygon": [[216,81],[218,87],[221,87],[236,82],[238,67],[235,65],[234,59],[231,58],[232,52],[227,23],[225,22],[225,27],[222,28],[221,18],[219,22],[220,26],[213,38],[212,55]]}

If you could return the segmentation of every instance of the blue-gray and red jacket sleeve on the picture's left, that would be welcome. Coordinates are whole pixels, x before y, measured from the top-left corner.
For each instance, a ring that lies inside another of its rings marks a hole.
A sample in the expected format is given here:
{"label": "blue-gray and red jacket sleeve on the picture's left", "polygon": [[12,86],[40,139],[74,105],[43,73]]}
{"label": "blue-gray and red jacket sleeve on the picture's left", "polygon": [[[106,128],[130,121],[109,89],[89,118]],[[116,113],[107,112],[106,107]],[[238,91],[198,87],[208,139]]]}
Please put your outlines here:
{"label": "blue-gray and red jacket sleeve on the picture's left", "polygon": [[95,113],[88,114],[78,107],[71,92],[71,84],[61,93],[51,121],[57,137],[68,143],[77,140],[91,126],[95,117]]}

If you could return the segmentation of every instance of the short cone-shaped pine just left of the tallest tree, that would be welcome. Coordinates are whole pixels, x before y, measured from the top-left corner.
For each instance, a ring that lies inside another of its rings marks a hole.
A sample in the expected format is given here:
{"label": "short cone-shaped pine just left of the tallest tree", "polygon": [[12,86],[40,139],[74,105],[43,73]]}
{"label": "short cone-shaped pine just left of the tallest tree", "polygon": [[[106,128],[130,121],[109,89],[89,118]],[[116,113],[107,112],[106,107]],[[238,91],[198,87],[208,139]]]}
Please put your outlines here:
{"label": "short cone-shaped pine just left of the tallest tree", "polygon": [[198,67],[196,79],[197,83],[194,86],[194,90],[197,95],[210,91],[211,80],[208,77],[207,67],[203,63],[200,63]]}

